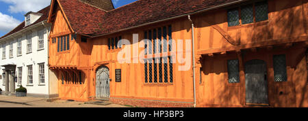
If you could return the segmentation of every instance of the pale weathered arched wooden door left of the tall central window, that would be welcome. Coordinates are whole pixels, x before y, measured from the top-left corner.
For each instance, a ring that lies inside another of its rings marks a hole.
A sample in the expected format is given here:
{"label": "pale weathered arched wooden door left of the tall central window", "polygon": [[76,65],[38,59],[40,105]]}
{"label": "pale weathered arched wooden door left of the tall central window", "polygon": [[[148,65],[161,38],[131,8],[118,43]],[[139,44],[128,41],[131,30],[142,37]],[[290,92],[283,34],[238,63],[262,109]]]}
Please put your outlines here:
{"label": "pale weathered arched wooden door left of the tall central window", "polygon": [[97,69],[96,96],[97,99],[110,98],[109,69],[105,66]]}

